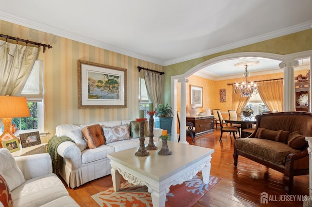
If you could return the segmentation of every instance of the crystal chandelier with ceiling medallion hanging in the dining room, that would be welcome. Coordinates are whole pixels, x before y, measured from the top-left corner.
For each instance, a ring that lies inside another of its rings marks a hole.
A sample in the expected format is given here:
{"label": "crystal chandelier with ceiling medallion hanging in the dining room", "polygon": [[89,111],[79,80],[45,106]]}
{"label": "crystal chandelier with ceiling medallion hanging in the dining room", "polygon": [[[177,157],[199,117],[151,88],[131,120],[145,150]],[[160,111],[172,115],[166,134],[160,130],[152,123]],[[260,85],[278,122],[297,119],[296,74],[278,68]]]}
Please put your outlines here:
{"label": "crystal chandelier with ceiling medallion hanging in the dining room", "polygon": [[248,61],[248,62],[241,62],[237,63],[234,66],[235,67],[245,67],[245,72],[243,73],[243,76],[245,77],[245,82],[242,82],[241,84],[236,84],[234,88],[234,93],[240,94],[241,97],[250,97],[252,94],[256,94],[257,91],[257,85],[253,82],[248,83],[247,78],[249,77],[250,73],[247,71],[248,66],[255,66],[259,64],[259,61]]}

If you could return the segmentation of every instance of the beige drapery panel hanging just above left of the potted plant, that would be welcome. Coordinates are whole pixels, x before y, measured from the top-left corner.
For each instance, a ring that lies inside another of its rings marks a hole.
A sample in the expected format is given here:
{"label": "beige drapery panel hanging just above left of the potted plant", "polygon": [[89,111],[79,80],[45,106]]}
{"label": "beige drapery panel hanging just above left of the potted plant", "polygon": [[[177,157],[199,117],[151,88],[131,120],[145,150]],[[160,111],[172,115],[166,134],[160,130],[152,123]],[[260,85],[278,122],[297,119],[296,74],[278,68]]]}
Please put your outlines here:
{"label": "beige drapery panel hanging just above left of the potted plant", "polygon": [[144,80],[147,89],[147,93],[154,104],[154,108],[158,104],[163,104],[161,96],[162,77],[155,72],[144,71]]}

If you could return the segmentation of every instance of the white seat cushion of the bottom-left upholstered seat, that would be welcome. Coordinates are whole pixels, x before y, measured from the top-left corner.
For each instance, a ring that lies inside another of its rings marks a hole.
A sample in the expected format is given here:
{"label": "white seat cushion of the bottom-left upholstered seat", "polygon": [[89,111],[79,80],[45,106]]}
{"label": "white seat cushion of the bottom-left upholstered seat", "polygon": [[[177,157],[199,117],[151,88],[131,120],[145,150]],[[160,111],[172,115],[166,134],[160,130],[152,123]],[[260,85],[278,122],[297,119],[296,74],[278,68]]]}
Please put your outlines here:
{"label": "white seat cushion of the bottom-left upholstered seat", "polygon": [[39,207],[68,195],[62,181],[54,173],[26,180],[12,191],[14,207]]}

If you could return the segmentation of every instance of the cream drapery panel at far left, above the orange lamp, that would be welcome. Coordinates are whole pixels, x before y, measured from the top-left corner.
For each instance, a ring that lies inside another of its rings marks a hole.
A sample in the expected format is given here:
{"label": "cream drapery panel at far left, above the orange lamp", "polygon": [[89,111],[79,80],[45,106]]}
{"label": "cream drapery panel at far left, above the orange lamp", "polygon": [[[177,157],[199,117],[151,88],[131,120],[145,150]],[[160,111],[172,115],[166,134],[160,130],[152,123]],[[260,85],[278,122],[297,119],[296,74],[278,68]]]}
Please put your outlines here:
{"label": "cream drapery panel at far left, above the orange lamp", "polygon": [[38,56],[37,47],[0,40],[0,96],[20,96]]}

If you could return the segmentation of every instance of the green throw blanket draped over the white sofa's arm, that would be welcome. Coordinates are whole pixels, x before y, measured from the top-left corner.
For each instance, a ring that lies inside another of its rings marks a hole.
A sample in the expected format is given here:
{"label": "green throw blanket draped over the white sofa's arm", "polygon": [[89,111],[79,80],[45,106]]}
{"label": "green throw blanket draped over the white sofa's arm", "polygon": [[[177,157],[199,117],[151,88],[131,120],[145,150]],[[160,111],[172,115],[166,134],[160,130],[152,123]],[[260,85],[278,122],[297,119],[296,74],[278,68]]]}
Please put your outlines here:
{"label": "green throw blanket draped over the white sofa's arm", "polygon": [[59,163],[60,163],[60,159],[62,159],[62,157],[59,156],[59,154],[58,154],[58,146],[60,143],[62,143],[64,141],[75,142],[75,141],[73,141],[73,139],[71,139],[69,137],[57,137],[57,136],[54,136],[48,142],[48,153],[51,156],[53,173],[55,173],[55,174],[59,173]]}

